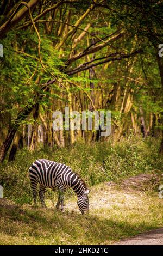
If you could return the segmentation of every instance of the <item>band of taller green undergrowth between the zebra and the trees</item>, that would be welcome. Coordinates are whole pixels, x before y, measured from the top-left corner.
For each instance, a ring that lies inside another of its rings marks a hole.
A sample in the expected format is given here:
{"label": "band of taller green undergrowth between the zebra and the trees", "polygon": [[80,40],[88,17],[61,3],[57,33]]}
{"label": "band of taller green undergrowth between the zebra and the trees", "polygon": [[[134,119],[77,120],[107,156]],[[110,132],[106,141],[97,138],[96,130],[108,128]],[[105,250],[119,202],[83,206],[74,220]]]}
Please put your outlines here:
{"label": "band of taller green undergrowth between the zebra and the trees", "polygon": [[[77,172],[88,186],[104,181],[118,182],[123,178],[140,173],[161,173],[163,159],[158,153],[156,139],[129,136],[128,139],[112,146],[109,142],[94,142],[90,145],[77,143],[73,147],[41,148],[34,152],[18,150],[14,162],[1,166],[0,185],[4,186],[5,197],[17,203],[31,203],[28,169],[36,159],[48,159],[65,163]],[[48,190],[48,197],[53,192]]]}

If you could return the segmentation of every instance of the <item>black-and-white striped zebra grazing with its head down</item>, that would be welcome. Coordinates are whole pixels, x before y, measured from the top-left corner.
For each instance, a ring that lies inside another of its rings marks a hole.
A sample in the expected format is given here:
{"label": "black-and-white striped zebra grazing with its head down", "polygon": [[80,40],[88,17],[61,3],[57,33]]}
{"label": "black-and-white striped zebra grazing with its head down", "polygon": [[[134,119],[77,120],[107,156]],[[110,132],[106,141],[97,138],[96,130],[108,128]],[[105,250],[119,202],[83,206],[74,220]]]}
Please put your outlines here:
{"label": "black-and-white striped zebra grazing with its head down", "polygon": [[64,211],[64,191],[71,187],[78,197],[78,207],[82,214],[89,212],[89,198],[90,192],[85,182],[79,178],[78,174],[72,172],[71,168],[63,163],[49,161],[46,159],[39,159],[32,163],[29,167],[29,178],[32,186],[32,194],[34,204],[36,205],[37,198],[37,184],[40,184],[39,197],[42,208],[46,208],[45,192],[47,188],[58,190],[57,209]]}

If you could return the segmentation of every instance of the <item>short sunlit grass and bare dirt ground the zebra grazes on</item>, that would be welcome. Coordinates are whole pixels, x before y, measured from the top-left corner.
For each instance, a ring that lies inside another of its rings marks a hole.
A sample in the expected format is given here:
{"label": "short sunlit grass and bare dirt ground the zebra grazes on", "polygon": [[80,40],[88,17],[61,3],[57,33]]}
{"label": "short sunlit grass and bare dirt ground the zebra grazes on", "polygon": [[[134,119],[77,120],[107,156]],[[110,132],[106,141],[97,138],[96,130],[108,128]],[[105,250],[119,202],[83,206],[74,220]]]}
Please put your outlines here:
{"label": "short sunlit grass and bare dirt ground the zebra grazes on", "polygon": [[[64,213],[54,209],[56,196],[46,200],[47,209],[1,199],[0,244],[111,245],[134,241],[162,245],[163,199],[150,189],[155,177],[141,175],[121,184],[105,182],[91,187],[90,214],[86,216],[80,214],[71,191],[66,194]],[[141,186],[137,187],[137,182]],[[153,229],[159,231],[145,233]]]}

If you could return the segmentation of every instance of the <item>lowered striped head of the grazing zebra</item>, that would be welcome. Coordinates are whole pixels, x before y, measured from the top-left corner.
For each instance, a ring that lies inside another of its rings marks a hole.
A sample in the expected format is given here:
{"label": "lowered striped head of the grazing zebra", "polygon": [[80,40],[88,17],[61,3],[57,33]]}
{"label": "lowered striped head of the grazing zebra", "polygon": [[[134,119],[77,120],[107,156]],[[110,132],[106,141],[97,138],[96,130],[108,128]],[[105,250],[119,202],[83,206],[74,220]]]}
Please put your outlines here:
{"label": "lowered striped head of the grazing zebra", "polygon": [[82,214],[89,212],[89,198],[88,198],[89,192],[90,190],[89,188],[87,188],[86,190],[84,190],[84,193],[82,194],[82,196],[78,197],[78,207],[79,207],[79,210],[82,212]]}

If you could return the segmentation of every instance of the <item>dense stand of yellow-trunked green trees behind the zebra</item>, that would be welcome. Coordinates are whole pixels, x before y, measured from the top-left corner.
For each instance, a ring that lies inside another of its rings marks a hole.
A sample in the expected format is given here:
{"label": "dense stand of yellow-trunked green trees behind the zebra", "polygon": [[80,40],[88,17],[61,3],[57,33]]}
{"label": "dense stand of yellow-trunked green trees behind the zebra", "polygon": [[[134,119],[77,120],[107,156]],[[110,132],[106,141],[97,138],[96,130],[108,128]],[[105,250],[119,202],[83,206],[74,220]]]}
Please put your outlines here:
{"label": "dense stand of yellow-trunked green trees behind the zebra", "polygon": [[[52,112],[65,105],[80,112],[90,106],[110,109],[115,141],[131,127],[140,133],[141,120],[147,133],[154,131],[162,107],[158,93],[162,64],[156,54],[156,42],[162,40],[160,7],[160,2],[146,5],[133,0],[3,1],[1,115],[8,113],[10,118],[2,121],[8,131],[4,129],[2,136],[0,161],[23,125],[25,137],[26,127],[33,126],[28,129],[31,149],[37,146],[34,137],[39,136],[39,126],[44,144],[50,147],[73,144],[81,136],[85,142],[93,139],[87,131],[52,131]],[[143,101],[145,94],[151,112]]]}

